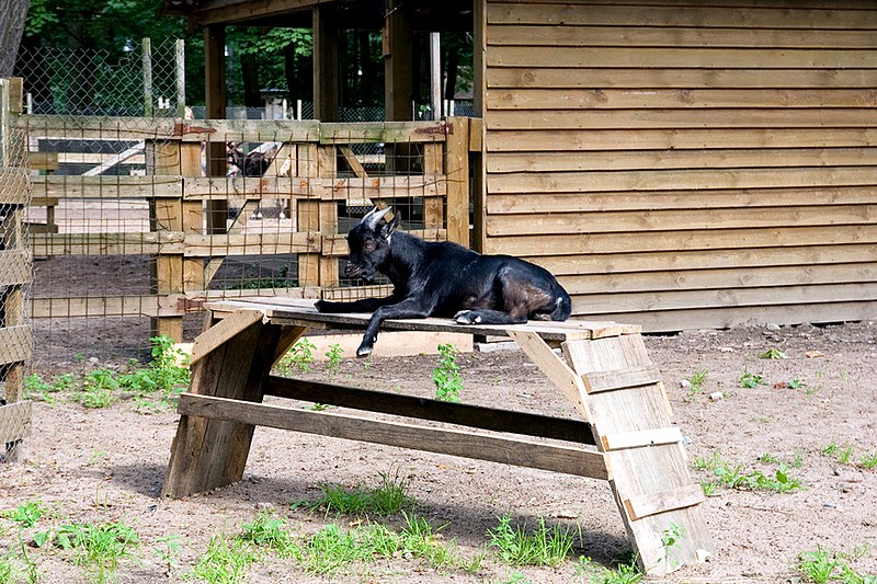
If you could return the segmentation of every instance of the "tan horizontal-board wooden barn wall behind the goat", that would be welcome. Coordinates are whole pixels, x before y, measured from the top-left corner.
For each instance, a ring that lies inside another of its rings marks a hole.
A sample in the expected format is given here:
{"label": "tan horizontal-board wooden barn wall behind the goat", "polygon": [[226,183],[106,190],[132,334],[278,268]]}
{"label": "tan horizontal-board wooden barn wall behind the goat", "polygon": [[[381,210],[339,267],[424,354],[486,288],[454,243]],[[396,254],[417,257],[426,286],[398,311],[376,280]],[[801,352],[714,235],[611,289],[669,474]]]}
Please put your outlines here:
{"label": "tan horizontal-board wooden barn wall behind the goat", "polygon": [[877,4],[487,0],[485,38],[487,252],[652,331],[877,317]]}

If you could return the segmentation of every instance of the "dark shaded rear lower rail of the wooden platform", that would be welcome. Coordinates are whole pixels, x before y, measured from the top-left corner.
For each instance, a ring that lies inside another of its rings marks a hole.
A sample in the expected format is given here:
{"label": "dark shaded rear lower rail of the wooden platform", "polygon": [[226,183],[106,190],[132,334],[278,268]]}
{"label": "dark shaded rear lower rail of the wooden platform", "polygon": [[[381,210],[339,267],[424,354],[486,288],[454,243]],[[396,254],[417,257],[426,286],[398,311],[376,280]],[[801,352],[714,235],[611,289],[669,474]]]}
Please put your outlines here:
{"label": "dark shaded rear lower rail of the wooden platform", "polygon": [[539,436],[577,444],[594,444],[591,425],[579,420],[451,403],[417,396],[400,396],[276,376],[271,376],[265,381],[265,393],[278,398],[430,420],[492,432]]}

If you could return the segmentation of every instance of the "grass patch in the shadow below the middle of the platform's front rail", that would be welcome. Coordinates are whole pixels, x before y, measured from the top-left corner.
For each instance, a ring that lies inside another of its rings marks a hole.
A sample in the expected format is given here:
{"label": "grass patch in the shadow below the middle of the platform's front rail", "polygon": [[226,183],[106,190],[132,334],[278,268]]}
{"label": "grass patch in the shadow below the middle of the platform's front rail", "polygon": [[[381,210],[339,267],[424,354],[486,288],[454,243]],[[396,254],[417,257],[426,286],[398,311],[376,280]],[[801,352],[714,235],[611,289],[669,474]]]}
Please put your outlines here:
{"label": "grass patch in the shadow below the middle of the platform's front rail", "polygon": [[326,513],[344,515],[387,516],[414,506],[415,501],[408,494],[409,480],[395,474],[379,473],[380,484],[375,488],[320,484],[323,496],[309,504],[311,508],[323,508]]}

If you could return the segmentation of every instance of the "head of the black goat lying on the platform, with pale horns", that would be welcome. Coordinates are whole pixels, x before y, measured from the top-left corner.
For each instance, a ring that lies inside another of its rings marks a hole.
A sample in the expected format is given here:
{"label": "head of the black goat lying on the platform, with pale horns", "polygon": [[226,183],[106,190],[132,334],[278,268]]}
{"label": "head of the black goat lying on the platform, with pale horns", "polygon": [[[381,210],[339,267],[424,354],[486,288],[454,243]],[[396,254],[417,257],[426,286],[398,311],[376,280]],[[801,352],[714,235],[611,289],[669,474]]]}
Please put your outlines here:
{"label": "head of the black goat lying on the platform, with pale horns", "polygon": [[363,278],[372,283],[375,272],[380,272],[390,254],[390,237],[399,226],[399,216],[390,222],[384,220],[390,207],[375,207],[348,233],[348,265],[344,275],[349,278]]}

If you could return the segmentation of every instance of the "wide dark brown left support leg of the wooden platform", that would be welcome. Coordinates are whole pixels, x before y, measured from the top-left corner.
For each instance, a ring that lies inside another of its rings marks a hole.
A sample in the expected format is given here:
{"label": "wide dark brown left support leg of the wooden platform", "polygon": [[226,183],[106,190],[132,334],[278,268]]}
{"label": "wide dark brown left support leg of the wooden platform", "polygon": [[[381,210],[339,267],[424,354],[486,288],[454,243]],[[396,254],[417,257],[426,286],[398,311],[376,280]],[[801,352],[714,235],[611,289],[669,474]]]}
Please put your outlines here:
{"label": "wide dark brown left support leg of the wooden platform", "polygon": [[[303,330],[304,331],[304,330]],[[209,330],[204,334],[209,333]],[[261,402],[282,327],[257,320],[192,366],[190,391]],[[162,496],[181,497],[239,481],[250,453],[252,424],[182,415],[171,446]]]}

